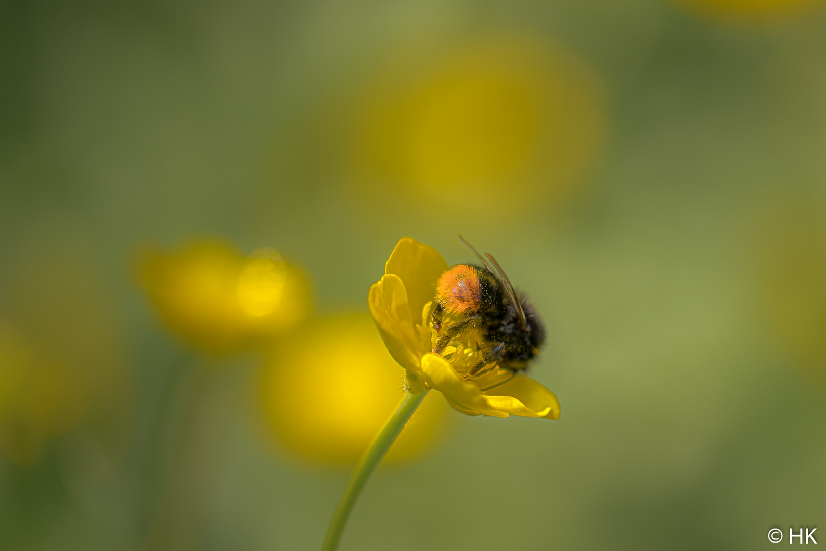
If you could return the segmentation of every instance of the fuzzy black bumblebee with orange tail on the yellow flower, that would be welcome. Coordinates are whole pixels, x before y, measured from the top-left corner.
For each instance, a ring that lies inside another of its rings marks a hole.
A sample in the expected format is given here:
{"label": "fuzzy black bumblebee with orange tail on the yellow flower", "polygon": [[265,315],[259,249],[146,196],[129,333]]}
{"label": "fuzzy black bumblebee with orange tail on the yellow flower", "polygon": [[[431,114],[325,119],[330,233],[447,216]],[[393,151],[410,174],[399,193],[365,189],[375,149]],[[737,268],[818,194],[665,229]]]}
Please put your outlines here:
{"label": "fuzzy black bumblebee with orange tail on the yellow flower", "polygon": [[486,253],[483,257],[461,235],[459,239],[484,267],[457,264],[439,276],[431,315],[439,334],[434,353],[441,354],[452,340],[475,329],[481,335],[479,344],[484,355],[466,377],[489,363],[514,372],[527,368],[545,340],[545,328],[534,306],[516,294],[493,255]]}

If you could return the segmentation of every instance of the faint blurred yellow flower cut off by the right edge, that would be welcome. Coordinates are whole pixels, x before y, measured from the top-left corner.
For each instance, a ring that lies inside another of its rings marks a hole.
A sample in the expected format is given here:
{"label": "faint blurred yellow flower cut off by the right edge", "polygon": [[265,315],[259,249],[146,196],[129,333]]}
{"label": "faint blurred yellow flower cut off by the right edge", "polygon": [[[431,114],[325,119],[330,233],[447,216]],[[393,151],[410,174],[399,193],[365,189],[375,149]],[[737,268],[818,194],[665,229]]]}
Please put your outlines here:
{"label": "faint blurred yellow flower cut off by the right edge", "polygon": [[764,304],[781,344],[826,372],[826,209],[811,197],[778,202],[759,239]]}

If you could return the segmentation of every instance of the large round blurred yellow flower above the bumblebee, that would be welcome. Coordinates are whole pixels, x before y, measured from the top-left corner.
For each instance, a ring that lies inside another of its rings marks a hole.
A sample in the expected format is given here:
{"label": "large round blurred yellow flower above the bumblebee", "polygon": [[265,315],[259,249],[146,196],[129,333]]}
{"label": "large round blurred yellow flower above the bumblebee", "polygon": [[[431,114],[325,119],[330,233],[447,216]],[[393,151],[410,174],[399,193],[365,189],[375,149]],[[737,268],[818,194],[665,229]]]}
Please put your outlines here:
{"label": "large round blurred yellow flower above the bumblebee", "polygon": [[586,64],[508,35],[426,57],[393,59],[355,109],[365,197],[432,206],[461,196],[466,211],[503,216],[572,191],[605,126],[601,83]]}

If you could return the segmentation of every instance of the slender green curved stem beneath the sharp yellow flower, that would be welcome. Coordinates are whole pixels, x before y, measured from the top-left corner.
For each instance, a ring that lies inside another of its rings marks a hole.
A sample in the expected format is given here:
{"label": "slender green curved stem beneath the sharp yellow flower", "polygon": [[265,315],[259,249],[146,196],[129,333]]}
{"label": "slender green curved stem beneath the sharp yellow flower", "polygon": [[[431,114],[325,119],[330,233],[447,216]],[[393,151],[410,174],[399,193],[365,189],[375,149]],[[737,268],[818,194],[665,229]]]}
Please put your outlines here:
{"label": "slender green curved stem beneath the sharp yellow flower", "polygon": [[367,452],[361,458],[361,461],[356,465],[356,470],[353,476],[350,477],[350,482],[344,490],[344,495],[341,496],[339,506],[335,508],[333,519],[330,520],[330,527],[327,528],[327,535],[324,539],[324,544],[321,546],[321,551],[335,551],[339,547],[339,540],[341,534],[344,532],[344,525],[347,524],[347,519],[350,512],[353,511],[353,506],[358,499],[358,494],[361,493],[364,484],[367,483],[368,478],[373,471],[376,470],[378,463],[382,462],[387,450],[396,440],[401,430],[405,428],[408,420],[410,420],[413,412],[419,407],[422,400],[427,395],[425,392],[418,394],[407,394],[401,404],[396,408],[392,417],[387,420],[387,423],[382,427],[378,433],[373,444],[370,444]]}

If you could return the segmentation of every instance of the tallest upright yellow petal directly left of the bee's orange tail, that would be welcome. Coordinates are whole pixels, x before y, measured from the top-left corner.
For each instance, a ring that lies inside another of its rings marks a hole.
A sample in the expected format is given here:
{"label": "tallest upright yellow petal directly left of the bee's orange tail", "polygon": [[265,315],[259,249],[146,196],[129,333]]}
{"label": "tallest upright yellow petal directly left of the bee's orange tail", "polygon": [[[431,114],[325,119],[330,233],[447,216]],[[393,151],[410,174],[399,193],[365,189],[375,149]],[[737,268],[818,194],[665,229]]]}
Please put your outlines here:
{"label": "tallest upright yellow petal directly left of the bee's orange tail", "polygon": [[435,297],[436,280],[448,268],[438,250],[412,237],[402,237],[387,259],[384,273],[395,273],[401,278],[407,289],[411,312],[418,316],[425,304]]}

